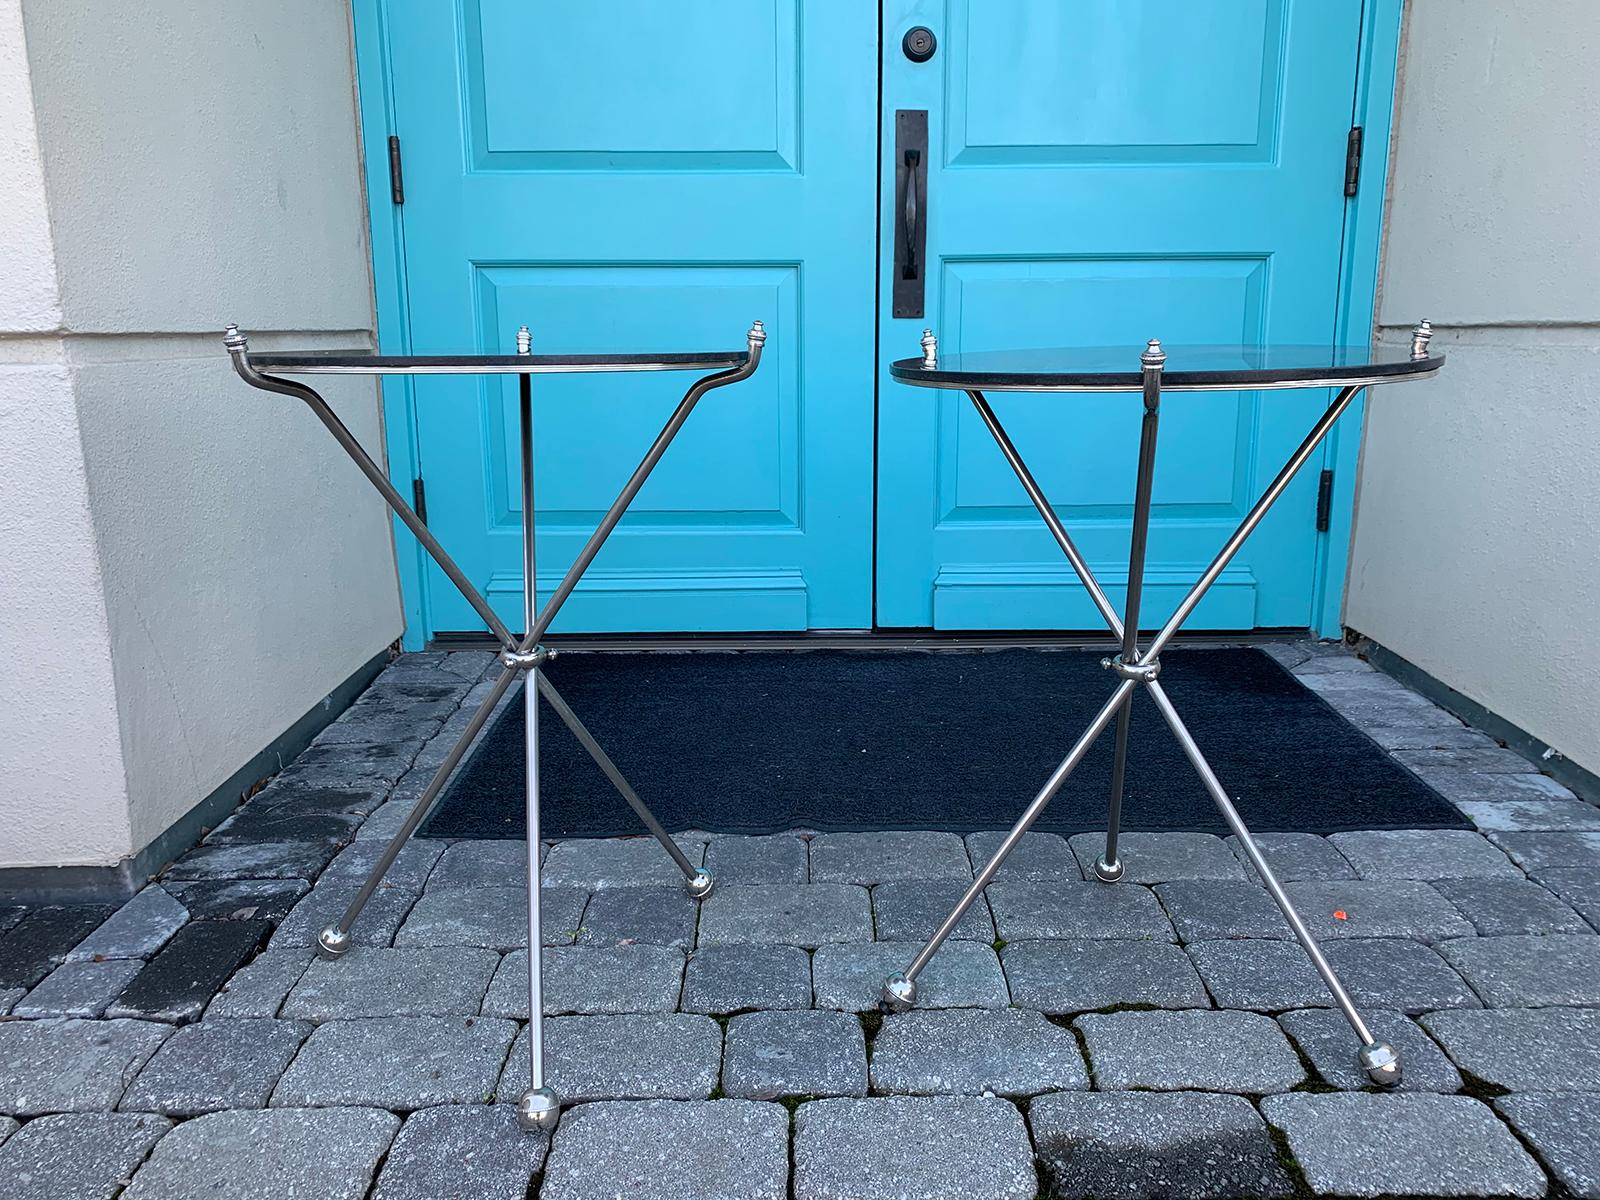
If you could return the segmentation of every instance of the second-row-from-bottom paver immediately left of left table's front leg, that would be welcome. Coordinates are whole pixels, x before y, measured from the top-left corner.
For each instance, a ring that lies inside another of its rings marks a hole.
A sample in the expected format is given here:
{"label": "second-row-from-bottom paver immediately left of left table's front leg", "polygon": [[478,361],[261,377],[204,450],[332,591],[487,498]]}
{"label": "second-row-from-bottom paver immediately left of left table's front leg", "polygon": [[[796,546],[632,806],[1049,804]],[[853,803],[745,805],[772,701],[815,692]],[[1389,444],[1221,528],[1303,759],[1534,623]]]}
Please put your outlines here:
{"label": "second-row-from-bottom paver immediately left of left table's front leg", "polygon": [[494,1018],[330,1021],[283,1072],[272,1107],[483,1104],[515,1037],[512,1021]]}

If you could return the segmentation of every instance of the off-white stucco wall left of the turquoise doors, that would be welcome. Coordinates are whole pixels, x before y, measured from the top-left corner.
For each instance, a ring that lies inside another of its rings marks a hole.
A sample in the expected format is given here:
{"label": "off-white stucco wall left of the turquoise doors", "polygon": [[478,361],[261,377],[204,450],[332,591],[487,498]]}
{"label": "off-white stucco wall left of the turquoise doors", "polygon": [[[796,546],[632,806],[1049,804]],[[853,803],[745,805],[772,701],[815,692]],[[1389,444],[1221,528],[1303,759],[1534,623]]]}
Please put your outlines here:
{"label": "off-white stucco wall left of the turquoise doors", "polygon": [[[382,506],[302,405],[248,389],[221,347],[229,320],[256,346],[371,342],[349,13],[22,0],[22,18],[70,413],[53,434],[77,456],[94,570],[53,555],[18,587],[43,611],[94,579],[101,629],[42,618],[32,653],[50,670],[106,664],[78,712],[112,704],[83,720],[110,731],[122,795],[120,834],[62,840],[53,816],[80,822],[102,790],[64,770],[34,798],[50,816],[0,840],[0,866],[112,864],[402,629]],[[14,349],[0,342],[0,362]],[[379,453],[376,387],[330,398]],[[62,506],[37,470],[29,486]],[[40,536],[58,522],[40,514]],[[18,606],[0,614],[6,642]],[[46,741],[69,762],[78,744]],[[0,766],[0,797],[10,782]]]}

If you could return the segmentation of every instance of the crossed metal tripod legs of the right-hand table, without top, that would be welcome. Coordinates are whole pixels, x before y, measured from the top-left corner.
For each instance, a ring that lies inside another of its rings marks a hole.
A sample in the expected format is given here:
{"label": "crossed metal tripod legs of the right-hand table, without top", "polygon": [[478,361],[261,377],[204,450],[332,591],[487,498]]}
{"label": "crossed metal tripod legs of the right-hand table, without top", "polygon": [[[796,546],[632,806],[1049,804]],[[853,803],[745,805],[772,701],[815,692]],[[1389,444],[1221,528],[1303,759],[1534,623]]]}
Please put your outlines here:
{"label": "crossed metal tripod legs of the right-hand table, without top", "polygon": [[[926,347],[928,338],[925,338]],[[1149,347],[1141,355],[1141,366],[1144,374],[1144,422],[1141,426],[1139,435],[1139,469],[1138,480],[1134,486],[1134,502],[1133,502],[1133,539],[1128,557],[1128,597],[1125,602],[1125,610],[1118,616],[1112,608],[1110,600],[1106,592],[1099,587],[1094,574],[1090,571],[1086,560],[1074,546],[1072,538],[1067,534],[1061,520],[1056,517],[1040,490],[1038,483],[1034,480],[1018,454],[1016,446],[1006,435],[989,402],[984,398],[982,392],[970,390],[966,395],[978,410],[978,416],[982,419],[989,434],[994,437],[995,443],[1000,446],[1000,453],[1005,456],[1006,462],[1016,472],[1018,480],[1022,483],[1022,490],[1027,493],[1029,499],[1038,509],[1040,517],[1045,518],[1045,525],[1054,538],[1056,544],[1061,547],[1072,570],[1083,581],[1088,589],[1090,598],[1099,610],[1101,616],[1106,619],[1106,626],[1110,629],[1112,635],[1120,640],[1120,653],[1115,658],[1102,659],[1107,670],[1118,677],[1117,686],[1112,690],[1110,698],[1101,707],[1101,710],[1090,722],[1088,728],[1072,746],[1072,750],[1061,765],[1051,773],[1045,781],[1045,786],[1038,790],[1034,800],[1022,811],[1011,830],[1002,838],[1000,846],[995,850],[994,856],[987,864],[978,872],[973,885],[966,890],[960,901],[957,901],[955,909],[949,917],[934,930],[928,942],[917,952],[910,965],[899,974],[891,974],[883,982],[883,1008],[888,1011],[906,1011],[917,1002],[917,976],[922,974],[928,962],[938,954],[939,947],[960,923],[962,917],[973,906],[978,896],[989,886],[989,882],[1000,870],[1002,864],[1016,850],[1016,845],[1022,840],[1022,835],[1029,827],[1038,819],[1038,814],[1045,811],[1045,806],[1051,802],[1061,786],[1067,781],[1067,776],[1077,770],[1078,763],[1088,754],[1094,741],[1106,731],[1106,728],[1117,722],[1115,733],[1115,750],[1112,758],[1112,778],[1110,778],[1110,797],[1107,803],[1107,821],[1106,821],[1106,853],[1101,854],[1094,862],[1094,875],[1106,882],[1115,883],[1123,875],[1122,859],[1117,856],[1117,837],[1122,824],[1122,792],[1123,778],[1128,758],[1128,723],[1133,709],[1133,696],[1141,688],[1149,693],[1150,701],[1155,704],[1157,712],[1162,720],[1171,728],[1173,736],[1182,747],[1184,755],[1189,763],[1195,768],[1200,776],[1200,782],[1211,802],[1218,806],[1227,827],[1238,837],[1240,845],[1245,850],[1245,858],[1250,859],[1250,866],[1254,867],[1261,882],[1266,885],[1267,893],[1272,896],[1274,902],[1283,912],[1285,920],[1288,920],[1290,928],[1299,939],[1306,954],[1310,957],[1312,965],[1326,984],[1328,992],[1333,995],[1334,1003],[1344,1014],[1346,1021],[1350,1022],[1350,1029],[1355,1032],[1360,1042],[1360,1062],[1366,1070],[1366,1075],[1382,1086],[1394,1086],[1400,1082],[1400,1058],[1394,1046],[1378,1042],[1373,1037],[1371,1029],[1362,1019],[1349,992],[1339,981],[1338,973],[1328,963],[1322,949],[1317,946],[1317,939],[1307,928],[1306,922],[1294,910],[1294,904],[1290,901],[1283,886],[1278,883],[1272,869],[1267,866],[1266,859],[1261,856],[1259,846],[1256,846],[1250,829],[1238,816],[1238,810],[1234,808],[1234,802],[1227,795],[1227,789],[1218,781],[1216,773],[1211,765],[1205,760],[1195,739],[1190,736],[1187,726],[1168,699],[1166,691],[1157,682],[1162,670],[1160,653],[1162,648],[1171,640],[1171,637],[1182,627],[1189,614],[1194,613],[1195,605],[1205,597],[1211,584],[1216,582],[1227,563],[1238,554],[1240,546],[1254,531],[1254,528],[1266,517],[1272,504],[1283,494],[1290,480],[1294,474],[1306,464],[1312,451],[1322,443],[1328,430],[1333,427],[1334,421],[1349,408],[1350,402],[1362,392],[1360,386],[1342,389],[1328,406],[1328,410],[1318,418],[1317,424],[1312,427],[1306,440],[1301,442],[1290,461],[1277,474],[1267,490],[1262,493],[1261,499],[1250,509],[1245,518],[1240,522],[1238,528],[1227,539],[1222,549],[1218,552],[1211,565],[1202,573],[1200,579],[1189,590],[1184,600],[1178,605],[1178,610],[1168,618],[1166,624],[1162,626],[1155,638],[1142,651],[1139,650],[1139,598],[1144,584],[1144,560],[1146,547],[1150,528],[1150,488],[1155,478],[1155,434],[1157,422],[1160,418],[1160,398],[1162,398],[1162,368],[1166,362],[1166,355],[1162,352],[1162,346],[1152,341]]]}

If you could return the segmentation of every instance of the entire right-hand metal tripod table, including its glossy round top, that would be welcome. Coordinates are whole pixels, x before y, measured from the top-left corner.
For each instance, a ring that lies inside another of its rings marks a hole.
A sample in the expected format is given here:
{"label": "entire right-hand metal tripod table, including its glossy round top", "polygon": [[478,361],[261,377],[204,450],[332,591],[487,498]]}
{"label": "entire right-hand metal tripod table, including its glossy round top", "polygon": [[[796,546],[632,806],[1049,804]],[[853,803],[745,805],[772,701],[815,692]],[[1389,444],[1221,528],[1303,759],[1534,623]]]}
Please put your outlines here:
{"label": "entire right-hand metal tripod table, including its glossy round top", "polygon": [[[912,958],[910,965],[899,974],[891,974],[883,981],[883,1008],[904,1011],[917,1003],[917,976],[922,974],[928,962],[955,930],[957,923],[971,907],[973,901],[989,886],[995,872],[1016,850],[1018,842],[1029,830],[1038,814],[1051,802],[1067,776],[1083,762],[1094,741],[1106,728],[1117,722],[1115,749],[1112,758],[1110,795],[1106,816],[1106,853],[1094,862],[1094,875],[1102,883],[1115,883],[1123,875],[1122,859],[1117,856],[1117,835],[1122,827],[1122,792],[1128,763],[1128,723],[1133,710],[1133,694],[1139,688],[1149,693],[1150,701],[1160,712],[1162,720],[1171,728],[1173,736],[1182,747],[1200,782],[1210,794],[1213,803],[1222,814],[1229,829],[1238,837],[1250,866],[1256,869],[1267,893],[1282,909],[1285,920],[1306,947],[1312,965],[1326,984],[1334,1003],[1350,1022],[1360,1042],[1360,1062],[1368,1078],[1381,1086],[1394,1086],[1400,1082],[1400,1058],[1394,1046],[1373,1037],[1371,1029],[1349,992],[1339,981],[1338,973],[1328,963],[1317,946],[1310,928],[1294,910],[1283,886],[1272,874],[1272,867],[1261,856],[1250,829],[1234,808],[1227,789],[1216,778],[1206,763],[1205,755],[1195,744],[1171,699],[1162,688],[1162,650],[1194,613],[1195,605],[1205,597],[1211,584],[1227,563],[1238,554],[1245,539],[1254,531],[1267,515],[1272,504],[1283,494],[1283,490],[1294,478],[1294,474],[1306,466],[1322,440],[1333,429],[1333,424],[1350,406],[1350,402],[1363,389],[1379,384],[1406,382],[1434,376],[1443,366],[1443,355],[1429,354],[1427,344],[1434,336],[1427,322],[1419,323],[1411,331],[1408,347],[1378,347],[1370,350],[1358,347],[1326,347],[1326,346],[1195,346],[1163,350],[1158,341],[1150,341],[1138,358],[1134,370],[1133,352],[1126,349],[1070,349],[1070,350],[994,350],[979,354],[958,354],[939,358],[939,346],[931,330],[922,336],[922,358],[902,358],[890,368],[890,374],[902,384],[915,387],[936,387],[966,392],[968,400],[978,410],[984,427],[1000,446],[1000,453],[1022,483],[1027,498],[1038,509],[1050,536],[1061,547],[1072,570],[1077,573],[1090,600],[1099,610],[1101,618],[1112,637],[1120,643],[1118,653],[1102,661],[1102,666],[1117,677],[1106,704],[1090,722],[1078,741],[1061,760],[1061,765],[1050,774],[1043,787],[1034,795],[1022,816],[1018,818],[1011,830],[1002,838],[994,856],[973,878],[971,886],[957,901],[950,915],[944,918],[928,942]],[[1168,370],[1171,363],[1171,370]],[[1288,462],[1274,477],[1261,498],[1245,514],[1245,518],[1222,544],[1211,565],[1202,571],[1194,587],[1178,603],[1166,622],[1146,646],[1139,646],[1139,600],[1144,589],[1144,563],[1150,533],[1150,491],[1155,482],[1155,435],[1162,411],[1162,392],[1256,392],[1269,389],[1298,387],[1338,387],[1333,403],[1317,419],[1306,440],[1299,443]],[[1134,475],[1133,494],[1133,534],[1128,552],[1128,594],[1122,614],[1110,603],[1106,590],[1094,579],[1088,562],[1072,541],[1066,526],[1056,517],[1043,490],[1027,469],[1021,453],[1011,442],[1000,418],[995,416],[984,392],[1141,392],[1144,397],[1144,419],[1139,429],[1139,459]]]}

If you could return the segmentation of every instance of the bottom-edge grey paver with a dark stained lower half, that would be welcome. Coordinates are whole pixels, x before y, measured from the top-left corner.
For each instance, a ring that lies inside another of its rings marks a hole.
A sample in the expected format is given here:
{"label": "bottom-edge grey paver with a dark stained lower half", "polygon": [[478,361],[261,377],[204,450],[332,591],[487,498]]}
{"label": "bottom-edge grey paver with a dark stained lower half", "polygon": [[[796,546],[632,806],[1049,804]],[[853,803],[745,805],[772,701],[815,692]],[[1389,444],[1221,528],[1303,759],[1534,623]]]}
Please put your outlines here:
{"label": "bottom-edge grey paver with a dark stained lower half", "polygon": [[1291,1195],[1266,1123],[1243,1096],[1198,1091],[1040,1096],[1027,1110],[1051,1197],[1146,1200]]}

